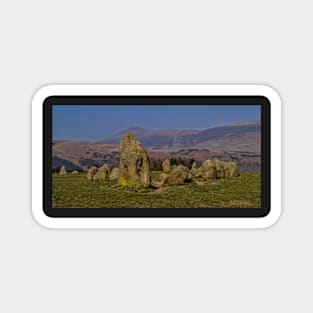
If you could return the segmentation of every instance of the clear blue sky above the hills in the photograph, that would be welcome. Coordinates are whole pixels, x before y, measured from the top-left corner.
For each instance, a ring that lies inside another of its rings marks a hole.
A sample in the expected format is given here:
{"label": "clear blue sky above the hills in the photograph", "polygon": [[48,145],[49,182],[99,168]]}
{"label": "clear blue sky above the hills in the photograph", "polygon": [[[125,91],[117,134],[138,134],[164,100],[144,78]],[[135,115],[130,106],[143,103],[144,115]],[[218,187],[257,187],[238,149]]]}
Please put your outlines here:
{"label": "clear blue sky above the hills in the photograph", "polygon": [[132,126],[147,129],[206,129],[260,120],[257,105],[57,105],[52,108],[53,140],[103,140]]}

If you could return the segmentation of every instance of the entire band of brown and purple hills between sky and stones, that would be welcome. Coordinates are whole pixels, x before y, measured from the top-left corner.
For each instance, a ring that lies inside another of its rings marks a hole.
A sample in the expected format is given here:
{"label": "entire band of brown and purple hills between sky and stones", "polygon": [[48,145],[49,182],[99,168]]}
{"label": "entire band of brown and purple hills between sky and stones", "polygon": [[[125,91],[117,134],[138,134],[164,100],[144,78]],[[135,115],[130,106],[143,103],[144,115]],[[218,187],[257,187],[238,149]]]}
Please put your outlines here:
{"label": "entire band of brown and purple hills between sky and stones", "polygon": [[[221,125],[205,130],[149,130],[128,128],[147,149],[151,158],[206,159],[234,161],[242,171],[260,171],[261,125],[257,121]],[[117,166],[119,143],[124,131],[104,142],[55,141],[52,146],[53,167],[65,165],[86,170],[107,163]],[[63,163],[62,163],[63,162]]]}

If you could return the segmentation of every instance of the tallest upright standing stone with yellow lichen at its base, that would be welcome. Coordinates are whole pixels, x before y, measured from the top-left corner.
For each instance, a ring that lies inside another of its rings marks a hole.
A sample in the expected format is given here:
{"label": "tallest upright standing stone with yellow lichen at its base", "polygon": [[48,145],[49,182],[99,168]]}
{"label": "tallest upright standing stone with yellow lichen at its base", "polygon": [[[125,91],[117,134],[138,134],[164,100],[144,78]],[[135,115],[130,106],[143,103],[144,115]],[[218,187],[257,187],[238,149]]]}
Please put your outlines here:
{"label": "tallest upright standing stone with yellow lichen at its base", "polygon": [[141,143],[125,133],[120,143],[118,181],[121,186],[150,185],[150,160]]}

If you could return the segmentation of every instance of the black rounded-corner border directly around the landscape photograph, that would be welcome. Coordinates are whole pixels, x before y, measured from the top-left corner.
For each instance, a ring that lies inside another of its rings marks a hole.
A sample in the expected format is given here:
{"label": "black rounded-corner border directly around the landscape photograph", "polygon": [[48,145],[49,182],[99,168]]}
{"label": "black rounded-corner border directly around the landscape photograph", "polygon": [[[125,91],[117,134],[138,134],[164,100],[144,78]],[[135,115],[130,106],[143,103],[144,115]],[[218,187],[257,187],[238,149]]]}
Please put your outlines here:
{"label": "black rounded-corner border directly around the landscape photograph", "polygon": [[[264,96],[50,96],[43,101],[43,211],[53,218],[265,217],[271,199],[271,114]],[[52,107],[57,105],[259,105],[261,106],[261,208],[53,208]]]}

